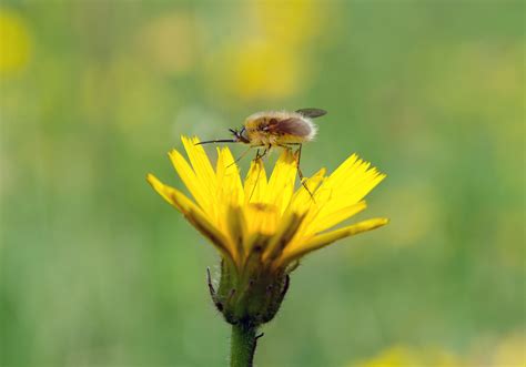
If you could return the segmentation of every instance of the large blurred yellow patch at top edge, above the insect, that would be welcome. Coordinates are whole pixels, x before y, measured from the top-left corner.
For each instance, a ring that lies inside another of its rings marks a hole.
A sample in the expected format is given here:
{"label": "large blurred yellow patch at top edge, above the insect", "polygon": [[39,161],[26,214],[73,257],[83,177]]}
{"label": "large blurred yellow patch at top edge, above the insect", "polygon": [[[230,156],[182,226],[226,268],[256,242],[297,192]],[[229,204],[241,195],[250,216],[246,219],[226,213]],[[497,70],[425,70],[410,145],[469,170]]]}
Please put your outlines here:
{"label": "large blurred yellow patch at top edge, above the insect", "polygon": [[213,44],[208,81],[229,98],[281,100],[310,88],[311,49],[326,33],[321,0],[252,0],[240,7],[235,37]]}

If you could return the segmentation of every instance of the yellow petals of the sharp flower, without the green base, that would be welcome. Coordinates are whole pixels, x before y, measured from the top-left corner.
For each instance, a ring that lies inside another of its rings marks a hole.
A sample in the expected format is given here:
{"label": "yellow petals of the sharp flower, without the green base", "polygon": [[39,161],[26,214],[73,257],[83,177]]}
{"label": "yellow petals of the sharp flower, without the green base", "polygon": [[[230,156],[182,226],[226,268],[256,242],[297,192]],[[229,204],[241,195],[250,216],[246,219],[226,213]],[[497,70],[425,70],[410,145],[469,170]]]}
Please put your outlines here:
{"label": "yellow petals of the sharp flower, without the green base", "polygon": [[295,188],[291,151],[283,152],[270,179],[259,160],[242,182],[227,147],[218,149],[214,170],[196,137],[182,141],[190,162],[176,150],[170,159],[194,200],[152,174],[148,181],[240,271],[255,251],[264,266],[285,268],[312,251],[387,223],[374,218],[328,231],[362,212],[363,197],[385,177],[355,154],[331,175],[322,169],[306,180],[311,197],[303,186]]}

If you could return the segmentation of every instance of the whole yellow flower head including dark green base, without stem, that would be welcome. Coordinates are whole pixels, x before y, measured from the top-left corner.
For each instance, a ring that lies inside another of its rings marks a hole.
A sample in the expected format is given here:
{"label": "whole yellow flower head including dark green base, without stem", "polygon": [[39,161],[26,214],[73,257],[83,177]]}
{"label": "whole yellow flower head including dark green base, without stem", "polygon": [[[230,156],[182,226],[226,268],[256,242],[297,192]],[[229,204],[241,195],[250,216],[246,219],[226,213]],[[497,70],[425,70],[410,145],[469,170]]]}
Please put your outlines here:
{"label": "whole yellow flower head including dark green base, without stem", "polygon": [[362,198],[385,177],[356,155],[330,176],[321,170],[306,180],[307,191],[295,188],[297,156],[290,150],[269,179],[257,160],[242,182],[227,147],[218,149],[214,170],[199,139],[182,141],[190,162],[176,150],[170,159],[193,200],[151,174],[148,181],[220,251],[220,285],[215,290],[209,274],[209,287],[234,326],[253,329],[275,316],[302,256],[387,223],[375,218],[331,231],[363,211]]}

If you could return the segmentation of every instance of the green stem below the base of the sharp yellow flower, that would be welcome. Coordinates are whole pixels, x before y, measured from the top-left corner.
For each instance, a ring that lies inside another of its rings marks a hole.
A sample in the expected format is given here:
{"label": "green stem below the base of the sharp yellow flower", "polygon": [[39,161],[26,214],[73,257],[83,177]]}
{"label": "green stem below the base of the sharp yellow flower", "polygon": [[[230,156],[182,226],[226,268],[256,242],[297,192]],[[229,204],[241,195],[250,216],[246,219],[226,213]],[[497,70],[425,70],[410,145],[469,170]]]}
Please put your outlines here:
{"label": "green stem below the base of the sharp yellow flower", "polygon": [[231,367],[252,367],[254,360],[255,336],[257,328],[246,324],[232,325],[232,339],[230,348]]}

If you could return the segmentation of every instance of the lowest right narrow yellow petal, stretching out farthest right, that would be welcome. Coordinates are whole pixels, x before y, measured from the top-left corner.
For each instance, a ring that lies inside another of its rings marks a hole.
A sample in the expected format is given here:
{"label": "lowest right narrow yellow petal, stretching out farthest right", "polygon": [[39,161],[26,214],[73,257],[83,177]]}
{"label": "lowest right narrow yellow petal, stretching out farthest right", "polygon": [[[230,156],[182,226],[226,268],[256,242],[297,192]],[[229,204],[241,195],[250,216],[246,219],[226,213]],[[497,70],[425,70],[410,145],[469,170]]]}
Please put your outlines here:
{"label": "lowest right narrow yellow petal, stretching out farthest right", "polygon": [[325,247],[335,241],[338,241],[338,239],[342,239],[342,238],[345,238],[345,237],[348,237],[362,232],[381,227],[387,223],[388,223],[387,218],[374,218],[374,220],[363,221],[363,222],[360,222],[360,223],[356,223],[356,224],[353,224],[353,225],[350,225],[347,227],[343,227],[336,231],[320,234],[308,239],[299,248],[295,248],[293,251],[289,251],[290,248],[285,248],[283,253],[283,257],[281,259],[281,264],[289,264],[295,259],[299,259],[300,257],[305,256],[310,252]]}

